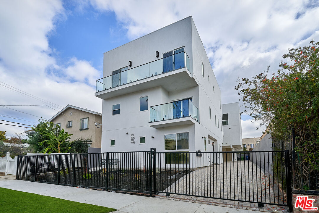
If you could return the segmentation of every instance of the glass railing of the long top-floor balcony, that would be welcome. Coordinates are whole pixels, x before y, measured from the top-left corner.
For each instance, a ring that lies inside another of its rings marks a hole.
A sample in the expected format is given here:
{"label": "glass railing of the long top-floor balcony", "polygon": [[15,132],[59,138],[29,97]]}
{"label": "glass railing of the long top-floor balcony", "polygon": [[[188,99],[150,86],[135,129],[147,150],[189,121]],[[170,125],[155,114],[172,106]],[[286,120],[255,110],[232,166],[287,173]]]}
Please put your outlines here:
{"label": "glass railing of the long top-floor balcony", "polygon": [[101,78],[96,81],[96,92],[118,87],[183,67],[186,67],[189,70],[189,57],[186,52],[176,52],[177,51],[175,51],[175,54],[160,58],[156,61]]}

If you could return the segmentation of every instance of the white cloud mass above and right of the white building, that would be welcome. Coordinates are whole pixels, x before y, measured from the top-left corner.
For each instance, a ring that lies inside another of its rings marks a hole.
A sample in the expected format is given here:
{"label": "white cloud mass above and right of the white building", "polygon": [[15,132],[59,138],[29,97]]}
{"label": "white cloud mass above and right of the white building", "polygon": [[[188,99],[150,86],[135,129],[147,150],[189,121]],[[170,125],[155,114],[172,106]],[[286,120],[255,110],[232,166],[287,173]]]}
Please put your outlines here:
{"label": "white cloud mass above and right of the white building", "polygon": [[[91,0],[91,4],[101,11],[114,11],[130,39],[192,15],[223,103],[239,100],[234,90],[237,77],[255,76],[267,65],[276,72],[288,48],[307,45],[312,38],[319,41],[316,1]],[[249,123],[243,125],[249,127],[243,128],[243,135],[248,131],[252,137],[260,136]]]}

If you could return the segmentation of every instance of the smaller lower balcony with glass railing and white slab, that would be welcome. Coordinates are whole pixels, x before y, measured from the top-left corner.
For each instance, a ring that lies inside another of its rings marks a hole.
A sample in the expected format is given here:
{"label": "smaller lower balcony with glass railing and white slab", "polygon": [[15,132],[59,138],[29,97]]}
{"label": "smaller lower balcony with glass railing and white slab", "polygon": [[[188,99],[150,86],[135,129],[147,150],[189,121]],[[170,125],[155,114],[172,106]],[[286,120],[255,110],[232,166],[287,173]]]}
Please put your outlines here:
{"label": "smaller lower balcony with glass railing and white slab", "polygon": [[199,123],[199,110],[190,99],[173,101],[150,107],[149,126],[167,126]]}

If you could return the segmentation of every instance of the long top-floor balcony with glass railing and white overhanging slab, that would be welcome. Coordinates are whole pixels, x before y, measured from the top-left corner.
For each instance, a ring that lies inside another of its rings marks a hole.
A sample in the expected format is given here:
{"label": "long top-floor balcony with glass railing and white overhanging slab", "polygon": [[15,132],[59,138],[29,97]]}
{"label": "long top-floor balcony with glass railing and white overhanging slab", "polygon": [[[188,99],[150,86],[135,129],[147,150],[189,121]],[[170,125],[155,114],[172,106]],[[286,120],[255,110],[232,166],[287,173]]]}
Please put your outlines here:
{"label": "long top-floor balcony with glass railing and white overhanging slab", "polygon": [[95,96],[107,99],[158,86],[167,91],[197,86],[185,51],[101,78]]}

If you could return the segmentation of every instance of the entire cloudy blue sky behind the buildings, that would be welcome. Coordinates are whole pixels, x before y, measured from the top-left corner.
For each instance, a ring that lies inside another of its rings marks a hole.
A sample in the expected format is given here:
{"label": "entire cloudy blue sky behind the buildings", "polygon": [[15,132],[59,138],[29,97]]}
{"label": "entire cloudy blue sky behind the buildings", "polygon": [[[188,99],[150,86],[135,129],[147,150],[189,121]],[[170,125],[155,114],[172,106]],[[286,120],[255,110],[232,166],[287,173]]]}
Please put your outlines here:
{"label": "entire cloudy blue sky behind the buildings", "polygon": [[[254,76],[268,65],[276,72],[289,48],[308,45],[312,38],[319,41],[319,4],[313,0],[3,1],[0,105],[49,106],[0,106],[0,119],[34,125],[68,104],[101,112],[101,99],[94,92],[103,53],[190,15],[222,103],[239,101],[237,77]],[[258,121],[242,115],[244,138],[261,136],[263,128],[257,126]],[[0,130],[11,136],[26,129],[0,124]]]}

